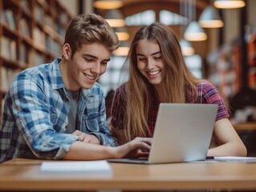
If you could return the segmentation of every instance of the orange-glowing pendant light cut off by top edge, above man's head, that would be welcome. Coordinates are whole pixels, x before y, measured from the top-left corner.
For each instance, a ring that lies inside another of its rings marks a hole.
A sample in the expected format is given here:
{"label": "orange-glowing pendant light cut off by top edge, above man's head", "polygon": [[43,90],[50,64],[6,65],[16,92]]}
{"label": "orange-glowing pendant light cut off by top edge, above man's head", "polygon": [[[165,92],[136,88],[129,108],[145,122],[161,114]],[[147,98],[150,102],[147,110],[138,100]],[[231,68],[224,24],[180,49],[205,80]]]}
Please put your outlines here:
{"label": "orange-glowing pendant light cut off by top edge, above man's head", "polygon": [[93,3],[93,6],[102,10],[118,9],[123,6],[124,3],[121,0],[98,0]]}

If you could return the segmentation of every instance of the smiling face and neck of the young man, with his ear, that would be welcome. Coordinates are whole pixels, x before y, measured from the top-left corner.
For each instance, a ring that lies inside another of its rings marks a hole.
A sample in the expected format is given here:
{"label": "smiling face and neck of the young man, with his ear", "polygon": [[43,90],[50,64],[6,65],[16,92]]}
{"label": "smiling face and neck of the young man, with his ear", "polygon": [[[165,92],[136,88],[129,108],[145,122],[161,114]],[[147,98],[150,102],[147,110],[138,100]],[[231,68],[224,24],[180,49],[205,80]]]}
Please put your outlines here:
{"label": "smiling face and neck of the young man, with his ear", "polygon": [[73,57],[70,57],[68,44],[64,45],[63,50],[67,63],[66,70],[62,70],[63,81],[68,90],[91,89],[110,61],[111,51],[97,42],[83,44]]}

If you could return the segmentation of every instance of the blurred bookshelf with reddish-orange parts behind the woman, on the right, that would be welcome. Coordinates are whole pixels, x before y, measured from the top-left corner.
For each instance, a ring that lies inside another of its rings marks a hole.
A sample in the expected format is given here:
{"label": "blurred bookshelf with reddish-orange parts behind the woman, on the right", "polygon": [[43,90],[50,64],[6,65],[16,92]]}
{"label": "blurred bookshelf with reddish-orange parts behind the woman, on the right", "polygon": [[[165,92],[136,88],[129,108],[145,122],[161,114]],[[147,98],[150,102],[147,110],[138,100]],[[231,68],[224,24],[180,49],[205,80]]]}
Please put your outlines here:
{"label": "blurred bookshelf with reddish-orange parts behind the woman, on the right", "polygon": [[[248,86],[256,90],[256,33],[246,42],[248,65]],[[214,61],[209,63],[209,80],[217,86],[221,95],[230,99],[242,90],[242,46],[241,40],[225,44],[217,53],[210,56]]]}

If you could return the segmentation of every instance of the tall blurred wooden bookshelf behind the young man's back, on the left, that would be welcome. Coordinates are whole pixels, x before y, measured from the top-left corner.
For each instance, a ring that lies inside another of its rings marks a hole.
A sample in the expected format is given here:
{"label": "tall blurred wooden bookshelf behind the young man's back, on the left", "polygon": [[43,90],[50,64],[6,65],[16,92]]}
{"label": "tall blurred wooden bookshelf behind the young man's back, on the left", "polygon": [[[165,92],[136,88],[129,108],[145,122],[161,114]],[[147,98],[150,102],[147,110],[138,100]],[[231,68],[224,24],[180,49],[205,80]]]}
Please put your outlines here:
{"label": "tall blurred wooden bookshelf behind the young man's back, on the left", "polygon": [[27,67],[61,56],[70,21],[58,1],[0,1],[0,119],[10,81]]}

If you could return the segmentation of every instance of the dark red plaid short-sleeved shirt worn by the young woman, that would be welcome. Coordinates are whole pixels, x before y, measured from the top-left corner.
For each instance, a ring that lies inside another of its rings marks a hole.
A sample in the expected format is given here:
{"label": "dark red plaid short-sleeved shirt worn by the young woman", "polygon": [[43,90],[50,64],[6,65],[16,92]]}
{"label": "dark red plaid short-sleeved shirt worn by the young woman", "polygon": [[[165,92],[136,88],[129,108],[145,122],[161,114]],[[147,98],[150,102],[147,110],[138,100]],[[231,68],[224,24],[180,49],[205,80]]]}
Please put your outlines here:
{"label": "dark red plaid short-sleeved shirt worn by the young woman", "polygon": [[[197,100],[193,94],[188,95],[187,103],[214,103],[218,104],[217,120],[221,118],[230,118],[224,102],[217,93],[217,90],[210,82],[200,82],[197,85]],[[124,110],[125,110],[125,84],[116,89],[115,98],[112,104],[112,126],[116,129],[124,129]],[[135,98],[136,99],[136,98]],[[154,132],[156,123],[156,115],[160,102],[152,96],[152,104],[149,106],[148,112],[148,129],[151,134]]]}

